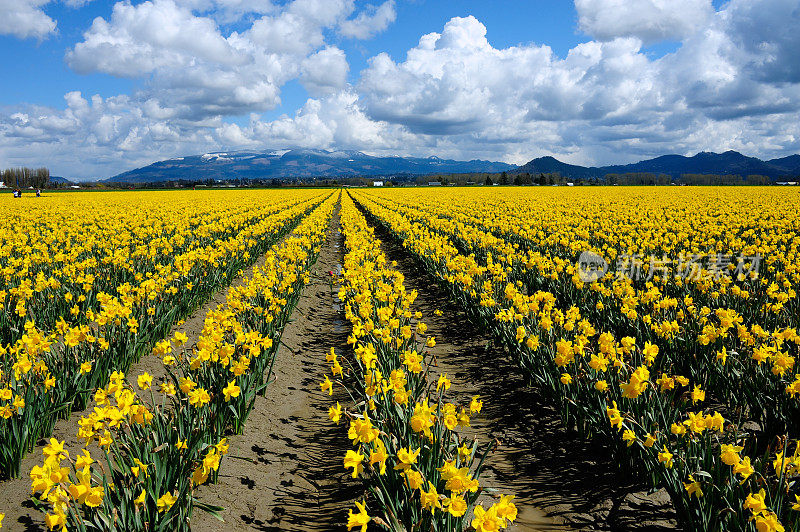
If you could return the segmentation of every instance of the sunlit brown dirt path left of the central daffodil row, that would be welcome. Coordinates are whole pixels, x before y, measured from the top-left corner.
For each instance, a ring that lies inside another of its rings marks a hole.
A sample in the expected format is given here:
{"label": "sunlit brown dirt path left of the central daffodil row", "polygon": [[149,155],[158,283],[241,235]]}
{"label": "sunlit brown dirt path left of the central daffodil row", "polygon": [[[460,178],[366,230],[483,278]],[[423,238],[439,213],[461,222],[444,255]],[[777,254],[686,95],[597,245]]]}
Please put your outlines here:
{"label": "sunlit brown dirt path left of the central daffodil row", "polygon": [[225,523],[195,512],[193,530],[343,529],[359,487],[344,480],[348,440],[345,429],[328,420],[331,398],[319,387],[325,354],[347,345],[349,329],[328,273],[340,268],[341,246],[336,215],[311,282],[284,330],[275,380],[256,401],[244,433],[231,438],[219,482],[199,490],[202,502],[225,507]]}

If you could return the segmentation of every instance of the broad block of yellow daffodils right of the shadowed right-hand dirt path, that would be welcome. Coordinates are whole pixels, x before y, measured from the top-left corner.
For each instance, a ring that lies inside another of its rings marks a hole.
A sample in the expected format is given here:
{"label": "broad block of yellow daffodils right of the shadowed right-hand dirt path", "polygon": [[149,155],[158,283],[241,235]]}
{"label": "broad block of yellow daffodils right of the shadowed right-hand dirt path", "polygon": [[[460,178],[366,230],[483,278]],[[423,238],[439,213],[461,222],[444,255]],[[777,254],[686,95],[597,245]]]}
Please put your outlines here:
{"label": "broad block of yellow daffodils right of the shadowed right-hand dirt path", "polygon": [[[687,529],[800,526],[796,194],[426,192],[355,197],[567,424],[666,488]],[[583,252],[606,268],[582,277]]]}

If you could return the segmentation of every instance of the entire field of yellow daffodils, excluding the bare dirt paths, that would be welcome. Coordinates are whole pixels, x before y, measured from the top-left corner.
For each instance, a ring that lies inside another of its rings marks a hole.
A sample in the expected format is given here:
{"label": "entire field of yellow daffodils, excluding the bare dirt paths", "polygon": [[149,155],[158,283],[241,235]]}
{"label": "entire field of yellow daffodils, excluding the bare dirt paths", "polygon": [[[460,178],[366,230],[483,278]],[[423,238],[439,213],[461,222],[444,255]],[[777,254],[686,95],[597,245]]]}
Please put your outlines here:
{"label": "entire field of yellow daffodils, excluding the bare dirt paths", "polygon": [[[235,458],[276,359],[291,356],[281,337],[323,248],[340,261],[324,282],[347,342],[312,353],[326,405],[313,415],[336,430],[341,482],[361,490],[342,528],[514,529],[519,500],[486,480],[496,442],[470,426],[484,399],[439,368],[447,353],[433,356],[380,228],[576,437],[666,490],[685,530],[800,531],[794,189],[140,191],[2,205],[0,489],[29,477],[51,530],[188,530],[198,510],[220,515],[198,486]],[[201,308],[192,336],[183,320]],[[142,360],[155,369],[130,371]],[[52,437],[65,420],[71,444]]]}

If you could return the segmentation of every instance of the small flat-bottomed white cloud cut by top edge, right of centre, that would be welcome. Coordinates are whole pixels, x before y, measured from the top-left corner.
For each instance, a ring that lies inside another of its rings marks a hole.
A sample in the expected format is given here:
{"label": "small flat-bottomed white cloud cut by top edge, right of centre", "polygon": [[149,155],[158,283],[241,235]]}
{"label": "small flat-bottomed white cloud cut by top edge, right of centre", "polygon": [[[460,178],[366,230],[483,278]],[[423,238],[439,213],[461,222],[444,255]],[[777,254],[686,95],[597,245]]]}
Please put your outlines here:
{"label": "small flat-bottomed white cloud cut by top edge, right of centre", "polygon": [[711,0],[575,0],[575,8],[580,29],[592,37],[644,42],[689,37],[714,13]]}

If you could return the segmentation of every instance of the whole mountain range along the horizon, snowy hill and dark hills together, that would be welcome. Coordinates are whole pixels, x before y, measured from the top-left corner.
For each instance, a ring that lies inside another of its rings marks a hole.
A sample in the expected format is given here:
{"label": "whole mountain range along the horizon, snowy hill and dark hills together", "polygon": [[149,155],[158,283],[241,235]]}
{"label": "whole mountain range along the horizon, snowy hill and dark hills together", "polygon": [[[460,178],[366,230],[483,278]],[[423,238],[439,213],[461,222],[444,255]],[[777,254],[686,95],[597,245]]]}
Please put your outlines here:
{"label": "whole mountain range along the horizon, snowy hill and dark hills together", "polygon": [[426,174],[559,173],[568,179],[603,179],[607,174],[653,173],[673,178],[683,174],[764,175],[772,180],[800,176],[800,155],[763,161],[736,151],[700,152],[692,157],[662,155],[637,163],[578,166],[554,157],[539,157],[522,165],[439,157],[375,157],[359,151],[272,150],[215,152],[158,161],[115,175],[106,181],[148,183],[177,180],[288,179],[352,176],[396,176],[408,179]]}

